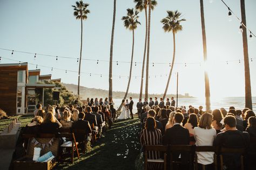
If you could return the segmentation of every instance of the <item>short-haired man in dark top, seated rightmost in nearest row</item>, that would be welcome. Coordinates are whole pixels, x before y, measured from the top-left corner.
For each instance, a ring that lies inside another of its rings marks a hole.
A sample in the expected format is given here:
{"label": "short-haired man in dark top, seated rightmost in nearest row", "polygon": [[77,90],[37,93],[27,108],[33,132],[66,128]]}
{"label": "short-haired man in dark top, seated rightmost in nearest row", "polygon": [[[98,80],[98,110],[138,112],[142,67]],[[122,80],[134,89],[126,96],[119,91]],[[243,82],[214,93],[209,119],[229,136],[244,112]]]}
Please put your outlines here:
{"label": "short-haired man in dark top, seated rightmost in nearest row", "polygon": [[[224,118],[225,132],[217,135],[215,146],[227,148],[243,148],[248,146],[250,137],[247,132],[238,131],[235,127],[237,124],[234,116]],[[240,155],[235,153],[223,154],[224,166],[226,169],[240,169]]]}

